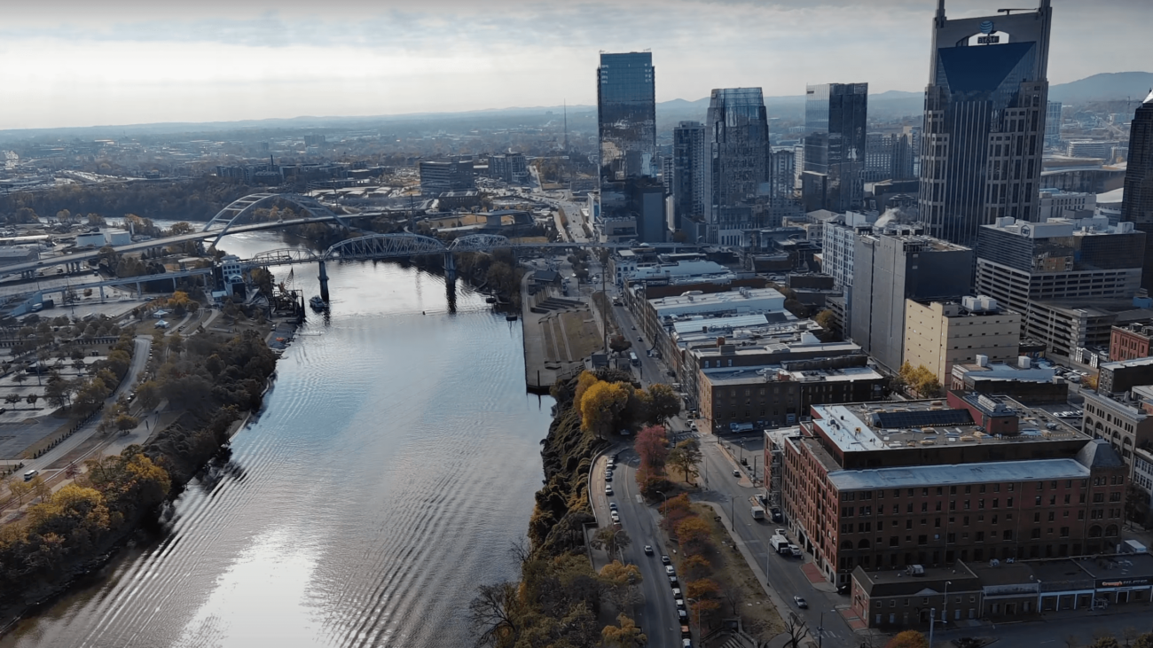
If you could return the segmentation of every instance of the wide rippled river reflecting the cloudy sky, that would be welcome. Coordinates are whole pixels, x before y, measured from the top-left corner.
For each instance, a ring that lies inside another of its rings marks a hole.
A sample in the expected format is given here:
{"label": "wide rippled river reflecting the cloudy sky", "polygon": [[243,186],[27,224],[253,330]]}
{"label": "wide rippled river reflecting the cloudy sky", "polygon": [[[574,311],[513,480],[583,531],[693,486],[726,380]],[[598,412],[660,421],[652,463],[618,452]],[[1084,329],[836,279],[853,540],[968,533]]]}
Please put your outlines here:
{"label": "wide rippled river reflecting the cloudy sky", "polygon": [[[243,236],[221,247],[284,247]],[[483,295],[458,284],[451,312],[435,274],[329,272],[330,319],[310,314],[231,461],[0,647],[470,642],[476,585],[517,577],[552,401],[525,392],[520,323]],[[292,279],[317,292],[315,268]]]}

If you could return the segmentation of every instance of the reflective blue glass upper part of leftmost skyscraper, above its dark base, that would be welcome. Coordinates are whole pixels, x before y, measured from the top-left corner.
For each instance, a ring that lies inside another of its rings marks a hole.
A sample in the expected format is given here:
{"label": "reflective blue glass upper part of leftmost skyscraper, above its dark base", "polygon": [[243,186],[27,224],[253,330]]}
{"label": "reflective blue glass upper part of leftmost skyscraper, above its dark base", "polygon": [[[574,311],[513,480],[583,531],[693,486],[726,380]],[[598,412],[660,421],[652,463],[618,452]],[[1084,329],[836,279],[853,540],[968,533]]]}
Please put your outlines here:
{"label": "reflective blue glass upper part of leftmost skyscraper, above its dark base", "polygon": [[656,85],[651,52],[601,54],[596,118],[601,181],[656,175]]}

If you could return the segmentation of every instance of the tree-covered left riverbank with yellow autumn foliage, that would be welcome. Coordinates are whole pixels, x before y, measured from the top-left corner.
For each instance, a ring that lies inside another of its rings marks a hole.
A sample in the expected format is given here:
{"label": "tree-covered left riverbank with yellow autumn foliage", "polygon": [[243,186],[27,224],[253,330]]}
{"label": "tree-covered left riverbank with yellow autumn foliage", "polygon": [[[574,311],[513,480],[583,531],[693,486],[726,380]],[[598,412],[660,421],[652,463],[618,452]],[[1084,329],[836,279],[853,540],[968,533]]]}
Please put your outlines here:
{"label": "tree-covered left riverbank with yellow autumn foliage", "polygon": [[[187,345],[187,348],[184,348]],[[98,572],[213,458],[235,423],[263,405],[276,354],[255,326],[167,344],[157,378],[138,387],[151,409],[180,409],[142,445],[86,462],[86,473],[29,507],[0,535],[0,636],[21,618]],[[217,389],[220,387],[220,389]]]}

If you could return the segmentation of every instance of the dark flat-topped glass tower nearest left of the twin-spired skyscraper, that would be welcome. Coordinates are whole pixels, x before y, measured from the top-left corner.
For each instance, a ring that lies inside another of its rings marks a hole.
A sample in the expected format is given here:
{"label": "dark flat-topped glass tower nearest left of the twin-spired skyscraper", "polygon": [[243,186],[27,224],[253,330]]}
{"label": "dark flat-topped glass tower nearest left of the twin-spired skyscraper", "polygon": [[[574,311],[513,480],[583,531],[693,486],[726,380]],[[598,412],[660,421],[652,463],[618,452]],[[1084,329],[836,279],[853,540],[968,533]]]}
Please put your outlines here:
{"label": "dark flat-topped glass tower nearest left of the twin-spired skyscraper", "polygon": [[824,83],[805,89],[801,201],[806,211],[860,208],[867,116],[868,83]]}

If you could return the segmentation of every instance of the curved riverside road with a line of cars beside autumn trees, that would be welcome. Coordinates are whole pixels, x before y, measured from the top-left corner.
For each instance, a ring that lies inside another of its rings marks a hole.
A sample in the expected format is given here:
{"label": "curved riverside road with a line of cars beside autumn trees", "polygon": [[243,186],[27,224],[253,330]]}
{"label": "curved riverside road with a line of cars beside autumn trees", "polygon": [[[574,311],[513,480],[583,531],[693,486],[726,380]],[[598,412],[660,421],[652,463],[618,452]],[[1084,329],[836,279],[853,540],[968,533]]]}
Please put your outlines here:
{"label": "curved riverside road with a line of cars beside autumn trees", "polygon": [[[649,646],[662,648],[680,646],[680,621],[672,598],[672,586],[661,564],[661,555],[668,549],[661,542],[660,514],[645,504],[636,485],[635,470],[640,459],[632,450],[617,455],[617,469],[612,475],[612,497],[604,495],[604,469],[606,459],[601,458],[593,467],[593,508],[601,526],[610,522],[609,502],[616,502],[620,513],[620,526],[628,534],[632,544],[621,551],[624,562],[640,567],[643,603],[633,611],[633,619],[648,635]],[[654,548],[653,556],[645,555],[645,545]]]}

